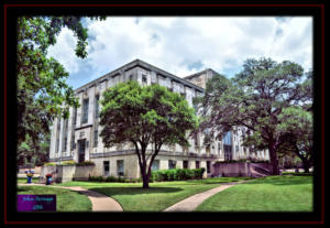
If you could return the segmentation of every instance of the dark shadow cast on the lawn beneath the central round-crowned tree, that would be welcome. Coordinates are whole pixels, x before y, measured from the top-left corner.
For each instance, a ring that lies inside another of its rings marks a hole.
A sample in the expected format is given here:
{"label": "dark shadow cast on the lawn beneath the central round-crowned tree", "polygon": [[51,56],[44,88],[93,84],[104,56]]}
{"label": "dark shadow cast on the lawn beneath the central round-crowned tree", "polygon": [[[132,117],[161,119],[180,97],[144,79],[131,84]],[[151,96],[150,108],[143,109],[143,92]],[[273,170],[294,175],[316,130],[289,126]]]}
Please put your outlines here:
{"label": "dark shadow cast on the lawn beneath the central round-crowned tree", "polygon": [[101,194],[106,194],[108,196],[114,195],[141,195],[141,194],[162,194],[162,193],[175,193],[184,191],[179,187],[94,187],[89,188],[89,191],[95,191]]}

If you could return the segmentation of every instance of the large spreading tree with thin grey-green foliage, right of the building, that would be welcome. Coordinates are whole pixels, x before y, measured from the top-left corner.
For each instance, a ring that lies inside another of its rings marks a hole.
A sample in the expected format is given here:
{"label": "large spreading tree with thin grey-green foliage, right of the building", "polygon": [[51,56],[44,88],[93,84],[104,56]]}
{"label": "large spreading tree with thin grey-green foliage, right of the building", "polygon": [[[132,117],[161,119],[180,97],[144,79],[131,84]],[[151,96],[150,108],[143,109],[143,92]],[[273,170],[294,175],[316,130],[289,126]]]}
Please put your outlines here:
{"label": "large spreading tree with thin grey-green foliage, right of the building", "polygon": [[[211,128],[217,134],[232,127],[246,127],[258,135],[257,146],[266,145],[273,174],[277,175],[277,150],[284,134],[278,116],[292,106],[311,106],[311,86],[302,79],[304,69],[298,64],[246,59],[234,78],[213,77],[207,84],[205,97],[196,99],[204,108],[201,127]],[[257,137],[249,139],[255,141]]]}

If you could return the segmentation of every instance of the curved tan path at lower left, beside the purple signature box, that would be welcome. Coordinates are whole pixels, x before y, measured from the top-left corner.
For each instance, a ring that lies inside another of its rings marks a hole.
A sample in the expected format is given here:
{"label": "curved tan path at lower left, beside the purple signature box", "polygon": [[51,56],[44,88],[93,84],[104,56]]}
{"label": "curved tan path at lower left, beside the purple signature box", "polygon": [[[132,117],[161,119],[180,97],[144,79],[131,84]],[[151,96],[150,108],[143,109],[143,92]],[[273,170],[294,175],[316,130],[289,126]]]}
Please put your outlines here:
{"label": "curved tan path at lower left, beside the purple signature box", "polygon": [[105,194],[97,193],[95,191],[85,189],[82,187],[64,187],[64,186],[52,186],[52,185],[34,184],[34,183],[32,183],[32,184],[19,184],[19,185],[50,186],[50,187],[59,187],[59,188],[76,191],[76,192],[79,192],[79,193],[88,196],[88,198],[89,198],[89,200],[91,202],[91,205],[92,205],[92,211],[123,211],[120,204],[117,200],[114,200],[113,198],[111,198],[111,197],[109,197]]}

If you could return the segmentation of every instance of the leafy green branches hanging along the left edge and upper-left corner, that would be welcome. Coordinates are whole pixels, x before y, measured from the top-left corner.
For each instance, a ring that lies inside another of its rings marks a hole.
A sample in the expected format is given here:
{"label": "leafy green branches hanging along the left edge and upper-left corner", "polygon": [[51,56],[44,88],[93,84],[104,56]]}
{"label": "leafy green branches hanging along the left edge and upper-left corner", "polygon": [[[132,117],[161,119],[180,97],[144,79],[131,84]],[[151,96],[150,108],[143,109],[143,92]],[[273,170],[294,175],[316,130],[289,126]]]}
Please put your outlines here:
{"label": "leafy green branches hanging along the left edge and upper-left corner", "polygon": [[[18,18],[16,96],[18,145],[28,139],[37,143],[42,133],[48,133],[55,117],[68,117],[68,108],[77,107],[78,99],[66,84],[68,73],[54,58],[47,58],[47,48],[56,43],[62,28],[77,37],[76,55],[86,57],[87,29],[81,17],[21,17]],[[102,18],[103,19],[103,18]],[[26,144],[25,142],[25,144]]]}

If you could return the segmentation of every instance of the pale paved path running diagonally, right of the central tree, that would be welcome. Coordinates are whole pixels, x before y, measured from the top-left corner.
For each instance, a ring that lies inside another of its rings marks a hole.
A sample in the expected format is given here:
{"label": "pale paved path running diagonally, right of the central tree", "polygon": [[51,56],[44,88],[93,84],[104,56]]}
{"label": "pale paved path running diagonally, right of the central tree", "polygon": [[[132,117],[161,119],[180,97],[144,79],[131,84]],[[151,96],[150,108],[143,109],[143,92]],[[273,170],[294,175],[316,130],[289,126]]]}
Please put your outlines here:
{"label": "pale paved path running diagonally, right of the central tree", "polygon": [[204,200],[206,200],[210,196],[212,196],[212,195],[215,195],[215,194],[217,194],[221,191],[224,191],[229,187],[232,187],[233,185],[241,184],[243,182],[246,182],[246,181],[223,183],[219,187],[215,187],[212,189],[209,189],[209,191],[206,191],[206,192],[202,192],[202,193],[198,193],[198,194],[193,195],[188,198],[185,198],[184,200],[178,202],[178,203],[172,205],[170,207],[166,208],[164,211],[193,211]]}

